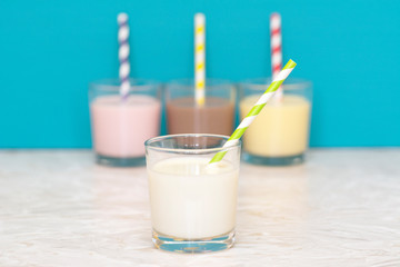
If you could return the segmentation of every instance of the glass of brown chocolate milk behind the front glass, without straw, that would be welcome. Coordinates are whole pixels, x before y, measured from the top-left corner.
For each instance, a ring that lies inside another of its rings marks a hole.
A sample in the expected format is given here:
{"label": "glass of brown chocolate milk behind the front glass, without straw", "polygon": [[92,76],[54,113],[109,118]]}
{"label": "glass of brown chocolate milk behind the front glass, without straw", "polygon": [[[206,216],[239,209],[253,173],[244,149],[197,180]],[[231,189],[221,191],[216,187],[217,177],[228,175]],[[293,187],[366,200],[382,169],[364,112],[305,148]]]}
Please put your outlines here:
{"label": "glass of brown chocolate milk behind the front glass, without straw", "polygon": [[170,81],[166,88],[169,135],[213,134],[230,136],[234,123],[236,88],[220,79],[206,80],[206,102],[194,99],[193,79]]}

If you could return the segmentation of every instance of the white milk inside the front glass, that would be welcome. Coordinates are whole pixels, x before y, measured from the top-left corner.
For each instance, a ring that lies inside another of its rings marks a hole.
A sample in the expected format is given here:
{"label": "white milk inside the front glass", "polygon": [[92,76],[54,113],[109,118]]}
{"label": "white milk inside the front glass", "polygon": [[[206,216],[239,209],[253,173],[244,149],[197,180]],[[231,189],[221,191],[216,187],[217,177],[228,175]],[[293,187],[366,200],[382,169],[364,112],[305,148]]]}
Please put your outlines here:
{"label": "white milk inside the front glass", "polygon": [[239,166],[209,158],[161,160],[148,168],[153,229],[160,235],[199,239],[228,234],[236,225]]}

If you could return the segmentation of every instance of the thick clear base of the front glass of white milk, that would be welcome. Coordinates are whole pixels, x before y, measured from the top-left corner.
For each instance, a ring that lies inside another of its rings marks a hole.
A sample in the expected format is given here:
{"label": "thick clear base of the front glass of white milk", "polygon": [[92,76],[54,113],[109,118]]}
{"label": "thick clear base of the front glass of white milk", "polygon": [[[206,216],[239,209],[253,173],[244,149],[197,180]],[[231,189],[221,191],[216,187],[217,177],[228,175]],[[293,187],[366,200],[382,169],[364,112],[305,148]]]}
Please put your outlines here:
{"label": "thick clear base of the front glass of white milk", "polygon": [[152,241],[159,249],[181,253],[181,254],[200,254],[213,253],[231,248],[234,243],[234,230],[216,237],[204,239],[186,240],[166,236],[157,231],[152,231]]}

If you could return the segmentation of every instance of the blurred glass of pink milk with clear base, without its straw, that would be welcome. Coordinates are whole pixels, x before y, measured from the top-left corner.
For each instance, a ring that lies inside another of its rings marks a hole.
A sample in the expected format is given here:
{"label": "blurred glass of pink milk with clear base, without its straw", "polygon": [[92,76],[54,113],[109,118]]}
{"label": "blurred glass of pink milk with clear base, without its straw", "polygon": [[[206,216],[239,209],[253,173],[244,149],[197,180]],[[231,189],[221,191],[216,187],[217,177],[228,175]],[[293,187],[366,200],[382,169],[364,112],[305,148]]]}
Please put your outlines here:
{"label": "blurred glass of pink milk with clear base, without its straw", "polygon": [[92,144],[96,161],[112,167],[146,164],[144,141],[160,135],[160,83],[130,80],[126,100],[118,79],[89,86]]}

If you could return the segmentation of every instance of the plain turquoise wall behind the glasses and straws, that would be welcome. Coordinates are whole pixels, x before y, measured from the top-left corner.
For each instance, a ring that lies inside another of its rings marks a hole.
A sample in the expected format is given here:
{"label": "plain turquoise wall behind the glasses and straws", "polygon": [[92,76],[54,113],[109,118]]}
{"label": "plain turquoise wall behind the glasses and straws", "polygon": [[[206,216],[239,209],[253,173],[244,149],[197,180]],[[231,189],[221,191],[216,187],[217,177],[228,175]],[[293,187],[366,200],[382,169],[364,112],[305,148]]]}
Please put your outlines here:
{"label": "plain turquoise wall behind the glasses and straws", "polygon": [[269,14],[284,61],[314,83],[311,146],[400,146],[400,1],[0,1],[0,147],[91,146],[88,83],[117,77],[128,12],[132,76],[191,77],[192,17],[207,16],[208,76],[270,75]]}

